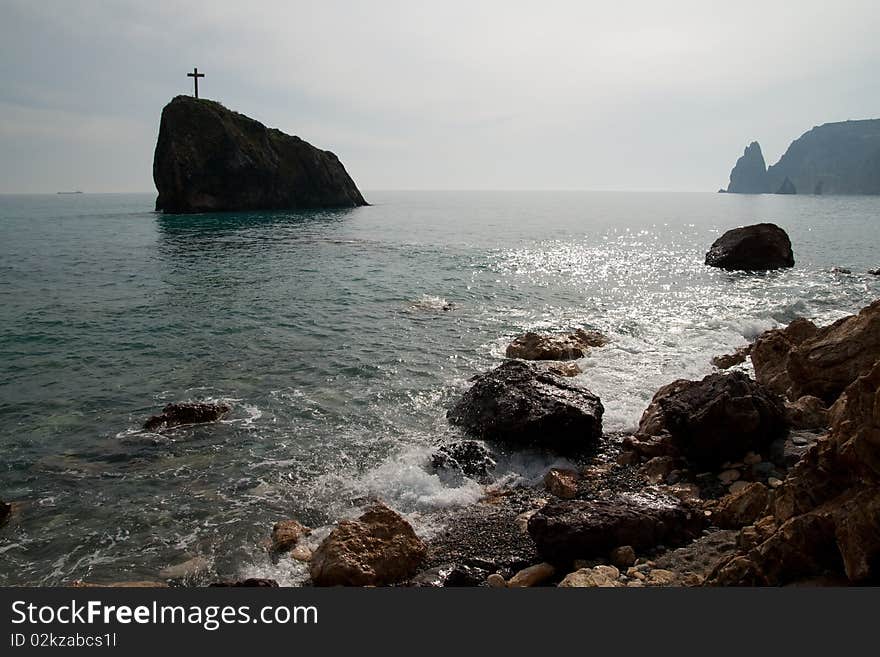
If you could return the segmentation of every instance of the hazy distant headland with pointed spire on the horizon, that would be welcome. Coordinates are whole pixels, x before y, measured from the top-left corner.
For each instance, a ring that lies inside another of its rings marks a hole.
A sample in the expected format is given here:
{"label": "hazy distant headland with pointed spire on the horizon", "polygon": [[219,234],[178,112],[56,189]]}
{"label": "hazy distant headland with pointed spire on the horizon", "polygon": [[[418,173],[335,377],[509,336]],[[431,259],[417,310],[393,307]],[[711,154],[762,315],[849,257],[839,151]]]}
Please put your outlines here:
{"label": "hazy distant headland with pointed spire on the horizon", "polygon": [[826,123],[795,139],[763,170],[752,142],[730,172],[728,192],[741,194],[880,194],[880,119]]}

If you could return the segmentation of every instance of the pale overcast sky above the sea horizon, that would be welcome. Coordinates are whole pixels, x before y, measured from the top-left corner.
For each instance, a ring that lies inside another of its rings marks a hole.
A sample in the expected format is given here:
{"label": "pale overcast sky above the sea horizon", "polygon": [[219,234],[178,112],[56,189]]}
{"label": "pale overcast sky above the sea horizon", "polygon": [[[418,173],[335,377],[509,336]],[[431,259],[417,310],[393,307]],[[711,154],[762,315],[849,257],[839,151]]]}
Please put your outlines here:
{"label": "pale overcast sky above the sea horizon", "polygon": [[0,193],[152,192],[200,95],[362,190],[715,191],[880,117],[877,0],[0,0]]}

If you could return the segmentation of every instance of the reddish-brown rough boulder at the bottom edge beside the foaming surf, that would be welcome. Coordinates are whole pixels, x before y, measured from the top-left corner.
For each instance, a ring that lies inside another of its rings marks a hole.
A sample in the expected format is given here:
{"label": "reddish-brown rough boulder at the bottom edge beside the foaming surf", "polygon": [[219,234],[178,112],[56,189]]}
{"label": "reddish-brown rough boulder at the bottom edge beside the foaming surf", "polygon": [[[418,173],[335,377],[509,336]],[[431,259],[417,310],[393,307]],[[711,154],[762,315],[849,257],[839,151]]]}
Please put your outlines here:
{"label": "reddish-brown rough boulder at the bottom edge beside the foaming surf", "polygon": [[412,526],[377,503],[357,520],[343,520],[310,562],[316,586],[385,586],[412,577],[427,547]]}

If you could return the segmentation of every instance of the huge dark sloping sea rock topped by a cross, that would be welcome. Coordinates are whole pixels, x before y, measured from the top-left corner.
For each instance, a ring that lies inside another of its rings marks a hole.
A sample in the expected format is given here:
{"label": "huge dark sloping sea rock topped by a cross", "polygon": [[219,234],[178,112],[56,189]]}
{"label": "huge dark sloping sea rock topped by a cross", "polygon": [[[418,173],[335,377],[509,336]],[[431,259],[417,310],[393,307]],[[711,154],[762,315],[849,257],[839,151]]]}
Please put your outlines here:
{"label": "huge dark sloping sea rock topped by a cross", "polygon": [[162,110],[153,180],[166,212],[367,204],[333,153],[190,96]]}

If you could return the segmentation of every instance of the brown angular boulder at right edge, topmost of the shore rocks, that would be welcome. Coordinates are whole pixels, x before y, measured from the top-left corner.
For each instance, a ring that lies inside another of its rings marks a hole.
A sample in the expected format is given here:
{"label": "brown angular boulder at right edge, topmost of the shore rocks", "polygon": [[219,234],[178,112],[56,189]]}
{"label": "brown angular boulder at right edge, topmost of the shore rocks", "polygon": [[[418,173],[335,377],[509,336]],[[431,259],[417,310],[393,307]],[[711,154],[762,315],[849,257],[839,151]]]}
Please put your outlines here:
{"label": "brown angular boulder at right edge, topmost of the shore rocks", "polygon": [[795,320],[766,331],[752,348],[755,377],[791,401],[805,395],[833,404],[880,359],[880,300],[830,326]]}

